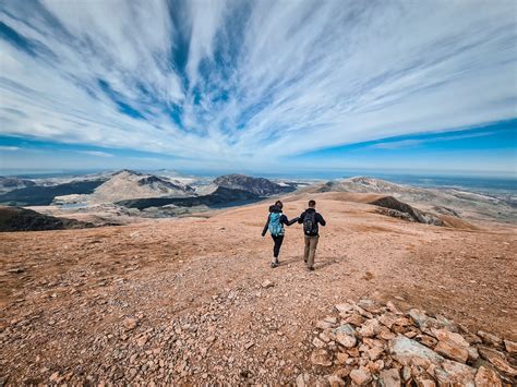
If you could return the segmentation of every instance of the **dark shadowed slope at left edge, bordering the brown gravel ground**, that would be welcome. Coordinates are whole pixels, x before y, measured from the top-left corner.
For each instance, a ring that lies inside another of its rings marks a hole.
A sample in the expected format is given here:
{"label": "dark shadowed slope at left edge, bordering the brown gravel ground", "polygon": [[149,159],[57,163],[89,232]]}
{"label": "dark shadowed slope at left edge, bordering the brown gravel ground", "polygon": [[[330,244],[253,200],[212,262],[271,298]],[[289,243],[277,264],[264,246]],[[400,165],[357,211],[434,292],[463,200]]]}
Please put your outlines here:
{"label": "dark shadowed slope at left edge, bordering the brown gravel ground", "polygon": [[0,232],[44,231],[93,227],[74,219],[56,218],[21,207],[0,207]]}

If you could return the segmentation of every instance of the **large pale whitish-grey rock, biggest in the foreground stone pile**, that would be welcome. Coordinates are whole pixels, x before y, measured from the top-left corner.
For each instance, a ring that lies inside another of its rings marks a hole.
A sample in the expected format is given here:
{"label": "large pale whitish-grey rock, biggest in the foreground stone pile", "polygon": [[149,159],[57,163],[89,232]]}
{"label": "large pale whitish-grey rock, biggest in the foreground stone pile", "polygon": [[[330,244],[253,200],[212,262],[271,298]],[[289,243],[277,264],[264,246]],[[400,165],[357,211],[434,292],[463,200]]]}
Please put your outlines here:
{"label": "large pale whitish-grey rock, biggest in the foreground stone pile", "polygon": [[431,364],[438,365],[444,361],[440,354],[406,336],[389,340],[389,352],[404,365],[419,365],[428,368]]}

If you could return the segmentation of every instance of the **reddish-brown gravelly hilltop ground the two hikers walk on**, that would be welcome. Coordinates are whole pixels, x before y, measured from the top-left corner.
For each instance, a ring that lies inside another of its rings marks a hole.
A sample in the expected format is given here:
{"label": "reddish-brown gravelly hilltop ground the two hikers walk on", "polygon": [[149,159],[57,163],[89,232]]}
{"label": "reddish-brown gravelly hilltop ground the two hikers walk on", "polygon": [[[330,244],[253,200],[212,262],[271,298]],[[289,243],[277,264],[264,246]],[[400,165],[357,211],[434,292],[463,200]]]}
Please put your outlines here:
{"label": "reddish-brown gravelly hilltop ground the two hikers walk on", "polygon": [[[317,322],[332,327],[336,304],[364,298],[516,341],[514,226],[409,222],[354,195],[311,195],[327,220],[313,273],[299,225],[287,229],[281,265],[269,267],[273,243],[261,238],[269,202],[121,227],[0,233],[0,385],[310,385],[346,362],[315,359]],[[298,216],[306,198],[286,199],[285,214]],[[512,375],[515,352],[507,361]],[[373,383],[361,372],[339,380]]]}

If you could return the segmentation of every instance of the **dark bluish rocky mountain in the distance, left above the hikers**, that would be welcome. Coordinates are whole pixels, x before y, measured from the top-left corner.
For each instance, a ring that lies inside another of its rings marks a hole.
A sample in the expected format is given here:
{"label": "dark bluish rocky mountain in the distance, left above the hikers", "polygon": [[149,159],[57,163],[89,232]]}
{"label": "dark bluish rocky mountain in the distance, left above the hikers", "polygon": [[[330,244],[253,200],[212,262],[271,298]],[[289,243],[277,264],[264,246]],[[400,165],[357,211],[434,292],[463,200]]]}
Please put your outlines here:
{"label": "dark bluish rocky mountain in the distance, left above the hikers", "polygon": [[290,185],[280,185],[264,178],[253,178],[244,174],[220,176],[214,180],[214,184],[232,190],[248,191],[256,196],[272,196],[294,191]]}

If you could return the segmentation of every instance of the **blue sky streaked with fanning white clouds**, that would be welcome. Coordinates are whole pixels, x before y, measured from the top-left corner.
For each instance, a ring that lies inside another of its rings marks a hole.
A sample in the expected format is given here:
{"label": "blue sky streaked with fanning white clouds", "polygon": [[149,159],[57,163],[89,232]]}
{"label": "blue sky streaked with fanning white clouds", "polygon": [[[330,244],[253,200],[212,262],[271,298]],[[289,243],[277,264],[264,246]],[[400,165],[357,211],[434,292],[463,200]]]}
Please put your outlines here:
{"label": "blue sky streaked with fanning white clouds", "polygon": [[516,173],[517,4],[0,3],[0,169]]}

